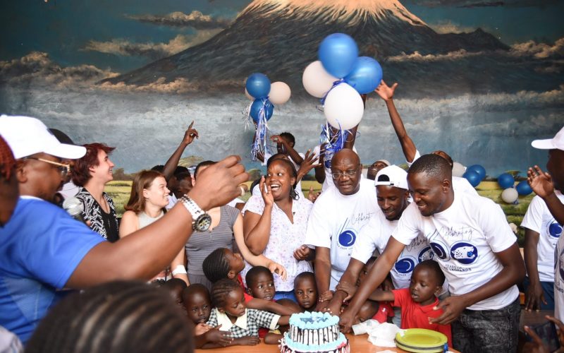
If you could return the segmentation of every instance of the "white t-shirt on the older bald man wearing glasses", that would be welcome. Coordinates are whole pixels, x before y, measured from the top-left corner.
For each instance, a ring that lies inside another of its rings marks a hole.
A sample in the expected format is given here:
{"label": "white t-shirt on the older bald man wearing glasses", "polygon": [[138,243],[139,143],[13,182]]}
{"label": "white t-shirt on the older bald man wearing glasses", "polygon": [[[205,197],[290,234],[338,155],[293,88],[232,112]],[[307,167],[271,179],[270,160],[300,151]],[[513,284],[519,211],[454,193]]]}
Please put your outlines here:
{"label": "white t-shirt on the older bald man wearing glasses", "polygon": [[360,230],[376,213],[381,210],[374,184],[368,179],[360,181],[360,189],[353,195],[343,195],[335,187],[322,192],[315,201],[307,222],[305,244],[331,249],[329,289],[335,289],[341,280]]}

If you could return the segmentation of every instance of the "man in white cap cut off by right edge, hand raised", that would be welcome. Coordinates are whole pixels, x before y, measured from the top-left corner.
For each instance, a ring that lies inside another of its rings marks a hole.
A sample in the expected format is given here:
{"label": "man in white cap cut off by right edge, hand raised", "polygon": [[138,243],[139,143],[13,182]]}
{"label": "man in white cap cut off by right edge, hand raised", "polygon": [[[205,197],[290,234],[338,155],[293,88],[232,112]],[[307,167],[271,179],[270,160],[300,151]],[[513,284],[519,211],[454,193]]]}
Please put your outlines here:
{"label": "man in white cap cut off by right edge, hand raised", "polygon": [[[564,202],[560,191],[564,188],[564,127],[556,133],[554,138],[534,140],[534,148],[548,150],[548,162],[543,172],[538,166],[529,168],[529,184],[537,196],[544,200],[548,211],[559,224],[553,229],[562,235],[564,225]],[[554,252],[554,316],[560,321],[564,320],[564,237],[558,237],[556,251]]]}

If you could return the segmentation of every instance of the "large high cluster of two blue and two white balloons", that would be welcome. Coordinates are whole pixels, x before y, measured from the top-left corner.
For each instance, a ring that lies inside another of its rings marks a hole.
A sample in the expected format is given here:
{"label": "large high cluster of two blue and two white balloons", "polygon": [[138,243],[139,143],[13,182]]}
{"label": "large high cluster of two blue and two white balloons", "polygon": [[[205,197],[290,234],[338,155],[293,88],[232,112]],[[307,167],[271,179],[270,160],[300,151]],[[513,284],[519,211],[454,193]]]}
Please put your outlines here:
{"label": "large high cluster of two blue and two white balloons", "polygon": [[360,123],[364,102],[360,94],[375,90],[382,79],[378,61],[358,56],[349,35],[333,33],[319,45],[319,61],[309,64],[302,83],[312,96],[322,98],[324,113],[333,128],[348,130]]}

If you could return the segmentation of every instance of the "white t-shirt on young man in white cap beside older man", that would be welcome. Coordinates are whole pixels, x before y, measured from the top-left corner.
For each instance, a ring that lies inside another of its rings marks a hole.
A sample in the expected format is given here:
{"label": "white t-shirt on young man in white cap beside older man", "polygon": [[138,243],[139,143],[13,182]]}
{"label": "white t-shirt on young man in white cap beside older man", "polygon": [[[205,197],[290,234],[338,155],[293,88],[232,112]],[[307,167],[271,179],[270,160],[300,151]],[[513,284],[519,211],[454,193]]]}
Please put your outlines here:
{"label": "white t-shirt on young man in white cap beside older man", "polygon": [[[386,244],[388,244],[388,239],[390,239],[397,225],[398,220],[386,220],[384,213],[381,211],[376,213],[376,217],[372,217],[368,225],[362,228],[359,233],[358,241],[355,243],[350,257],[366,263],[374,250],[377,249],[380,253],[383,253]],[[419,234],[409,245],[405,246],[398,257],[398,261],[390,271],[393,287],[396,289],[409,287],[413,268],[421,261],[432,260],[433,258],[434,253],[429,246],[429,241]],[[443,285],[443,287],[446,286]]]}

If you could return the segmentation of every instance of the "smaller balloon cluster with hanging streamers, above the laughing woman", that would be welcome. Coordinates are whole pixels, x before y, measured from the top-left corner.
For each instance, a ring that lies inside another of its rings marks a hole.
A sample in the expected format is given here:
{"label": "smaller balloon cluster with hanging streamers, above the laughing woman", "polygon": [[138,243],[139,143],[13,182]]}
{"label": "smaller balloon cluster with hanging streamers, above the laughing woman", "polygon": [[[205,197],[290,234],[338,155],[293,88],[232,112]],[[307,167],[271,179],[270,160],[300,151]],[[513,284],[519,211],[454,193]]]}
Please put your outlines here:
{"label": "smaller balloon cluster with hanging streamers, above the laughing woman", "polygon": [[[251,155],[256,160],[257,155],[266,155],[269,139],[269,121],[274,112],[274,104],[284,104],[290,100],[290,87],[283,82],[270,83],[264,73],[252,73],[245,83],[245,95],[252,100],[247,108],[247,121],[255,122],[255,138],[252,142]],[[250,119],[249,119],[250,118]]]}

